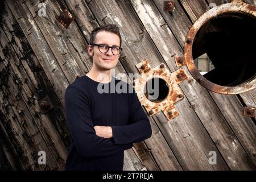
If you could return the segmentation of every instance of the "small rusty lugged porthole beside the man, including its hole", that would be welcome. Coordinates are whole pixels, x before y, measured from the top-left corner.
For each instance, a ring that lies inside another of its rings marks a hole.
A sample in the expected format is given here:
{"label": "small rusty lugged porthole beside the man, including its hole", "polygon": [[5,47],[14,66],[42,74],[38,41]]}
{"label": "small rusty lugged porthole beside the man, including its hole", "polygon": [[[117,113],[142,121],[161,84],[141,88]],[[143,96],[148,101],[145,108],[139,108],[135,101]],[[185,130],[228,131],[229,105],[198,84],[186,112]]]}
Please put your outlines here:
{"label": "small rusty lugged porthole beside the man, including its hole", "polygon": [[[141,75],[133,81],[133,86],[147,113],[152,116],[163,111],[168,121],[177,117],[179,111],[174,104],[184,98],[179,84],[188,78],[185,71],[180,68],[171,73],[163,63],[151,68],[147,59],[143,59],[136,67]],[[154,95],[150,91],[148,94],[147,88],[158,90],[158,93]],[[150,93],[154,95],[153,99],[150,98],[152,96]]]}

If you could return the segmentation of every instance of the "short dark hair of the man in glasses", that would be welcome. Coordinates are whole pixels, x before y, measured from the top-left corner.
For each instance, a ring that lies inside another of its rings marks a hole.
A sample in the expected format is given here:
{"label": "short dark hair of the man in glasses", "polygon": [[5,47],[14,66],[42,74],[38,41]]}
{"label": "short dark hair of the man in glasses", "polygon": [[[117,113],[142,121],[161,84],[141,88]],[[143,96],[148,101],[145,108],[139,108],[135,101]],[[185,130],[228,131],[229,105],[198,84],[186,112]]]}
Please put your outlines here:
{"label": "short dark hair of the man in glasses", "polygon": [[121,47],[121,44],[122,44],[121,35],[120,35],[120,32],[119,32],[119,28],[115,24],[106,24],[105,26],[95,28],[92,31],[92,33],[90,34],[90,44],[94,43],[94,41],[96,39],[96,35],[100,31],[108,31],[108,32],[112,32],[114,34],[117,34],[119,36],[119,39],[120,39],[120,47]]}

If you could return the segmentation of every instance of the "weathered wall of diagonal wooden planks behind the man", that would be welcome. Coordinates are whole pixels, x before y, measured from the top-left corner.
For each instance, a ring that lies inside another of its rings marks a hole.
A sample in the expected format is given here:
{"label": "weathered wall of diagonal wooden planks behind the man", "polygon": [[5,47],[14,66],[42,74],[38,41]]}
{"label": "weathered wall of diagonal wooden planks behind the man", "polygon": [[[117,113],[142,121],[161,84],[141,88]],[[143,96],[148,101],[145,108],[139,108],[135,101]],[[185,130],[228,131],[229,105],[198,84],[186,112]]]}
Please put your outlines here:
{"label": "weathered wall of diagonal wooden planks behind the man", "polygon": [[[46,3],[47,16],[38,16]],[[115,74],[139,73],[148,59],[177,70],[174,57],[183,55],[185,36],[209,3],[222,0],[179,0],[175,11],[163,11],[162,0],[9,0],[1,22],[0,167],[61,170],[70,144],[65,123],[64,92],[77,76],[92,67],[86,51],[93,28],[115,23],[121,29],[123,52]],[[255,1],[246,1],[255,5]],[[56,17],[68,9],[75,20],[66,29]],[[2,11],[2,10],[1,10]],[[163,113],[148,117],[152,137],[125,152],[125,170],[255,170],[255,118],[242,115],[256,107],[256,90],[237,95],[205,89],[183,68],[185,98],[175,104],[179,116],[167,122]],[[39,107],[48,96],[54,108]],[[150,149],[150,150],[149,150]],[[46,151],[47,165],[38,164]],[[209,151],[217,164],[210,165]]]}

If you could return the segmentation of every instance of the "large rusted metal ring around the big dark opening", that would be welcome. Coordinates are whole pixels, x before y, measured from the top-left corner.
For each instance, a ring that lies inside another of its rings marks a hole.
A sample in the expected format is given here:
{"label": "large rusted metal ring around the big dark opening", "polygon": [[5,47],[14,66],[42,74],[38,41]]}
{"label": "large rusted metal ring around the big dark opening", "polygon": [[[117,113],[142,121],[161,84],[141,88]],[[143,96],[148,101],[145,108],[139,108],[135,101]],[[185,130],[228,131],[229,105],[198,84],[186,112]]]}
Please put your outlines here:
{"label": "large rusted metal ring around the big dark opening", "polygon": [[224,5],[216,6],[213,9],[210,9],[209,11],[201,15],[200,18],[196,20],[196,22],[191,26],[190,30],[188,31],[185,44],[184,44],[184,58],[185,58],[185,63],[187,64],[187,67],[191,75],[195,78],[196,81],[198,81],[205,88],[212,90],[213,92],[216,92],[216,93],[239,94],[239,93],[243,93],[243,92],[247,92],[249,90],[255,89],[256,77],[254,77],[250,81],[247,81],[237,86],[217,85],[217,84],[214,84],[213,82],[210,82],[209,80],[207,80],[207,78],[201,75],[200,72],[197,70],[196,65],[194,64],[194,61],[193,61],[192,46],[193,46],[193,40],[195,39],[197,31],[199,31],[200,28],[206,22],[208,22],[209,19],[224,13],[243,13],[243,14],[248,14],[256,17],[256,7],[249,5],[247,3],[234,1],[232,3],[226,3]]}

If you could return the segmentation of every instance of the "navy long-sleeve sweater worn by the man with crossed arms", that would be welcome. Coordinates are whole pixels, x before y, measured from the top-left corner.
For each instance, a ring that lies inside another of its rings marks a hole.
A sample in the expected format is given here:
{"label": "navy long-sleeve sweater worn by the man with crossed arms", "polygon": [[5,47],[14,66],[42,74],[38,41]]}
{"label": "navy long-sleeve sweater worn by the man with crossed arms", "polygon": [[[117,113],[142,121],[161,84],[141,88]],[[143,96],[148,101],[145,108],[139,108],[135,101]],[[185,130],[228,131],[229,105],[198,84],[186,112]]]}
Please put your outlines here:
{"label": "navy long-sleeve sweater worn by the man with crossed arms", "polygon": [[[113,93],[115,86],[126,88],[126,93]],[[122,170],[123,151],[151,137],[150,121],[137,93],[113,76],[108,84],[80,77],[66,89],[64,102],[72,137],[65,170]],[[113,138],[98,137],[96,125],[111,126]]]}

